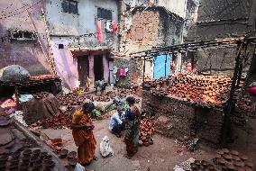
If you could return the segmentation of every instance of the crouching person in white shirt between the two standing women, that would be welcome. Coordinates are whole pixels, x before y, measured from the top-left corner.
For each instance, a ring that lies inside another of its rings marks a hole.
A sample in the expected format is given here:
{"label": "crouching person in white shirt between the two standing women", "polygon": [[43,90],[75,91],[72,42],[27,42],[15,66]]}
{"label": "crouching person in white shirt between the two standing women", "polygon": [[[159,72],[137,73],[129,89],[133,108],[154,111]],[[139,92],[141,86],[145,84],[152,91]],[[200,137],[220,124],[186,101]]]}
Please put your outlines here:
{"label": "crouching person in white shirt between the two standing women", "polygon": [[109,130],[111,130],[114,135],[118,138],[121,137],[121,132],[123,130],[123,108],[117,107],[117,112],[114,112],[114,114],[111,116],[109,121]]}

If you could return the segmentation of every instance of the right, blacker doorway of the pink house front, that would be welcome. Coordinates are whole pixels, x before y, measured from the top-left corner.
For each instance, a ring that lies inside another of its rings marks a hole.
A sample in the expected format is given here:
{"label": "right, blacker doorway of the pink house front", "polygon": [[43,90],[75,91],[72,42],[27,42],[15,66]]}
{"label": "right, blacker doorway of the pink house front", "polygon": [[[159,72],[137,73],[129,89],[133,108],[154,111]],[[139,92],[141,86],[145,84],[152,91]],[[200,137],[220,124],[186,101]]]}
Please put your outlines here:
{"label": "right, blacker doorway of the pink house front", "polygon": [[94,58],[95,81],[104,79],[103,57],[102,55]]}

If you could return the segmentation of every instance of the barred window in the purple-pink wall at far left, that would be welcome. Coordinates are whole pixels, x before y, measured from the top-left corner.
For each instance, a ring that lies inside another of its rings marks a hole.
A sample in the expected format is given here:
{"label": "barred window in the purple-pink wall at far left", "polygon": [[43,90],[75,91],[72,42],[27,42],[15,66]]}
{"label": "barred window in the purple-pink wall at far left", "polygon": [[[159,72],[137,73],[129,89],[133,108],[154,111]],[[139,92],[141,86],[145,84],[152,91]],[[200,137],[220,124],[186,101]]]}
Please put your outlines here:
{"label": "barred window in the purple-pink wall at far left", "polygon": [[18,31],[18,30],[10,30],[9,31],[10,40],[18,40],[18,41],[36,41],[36,34],[32,31]]}

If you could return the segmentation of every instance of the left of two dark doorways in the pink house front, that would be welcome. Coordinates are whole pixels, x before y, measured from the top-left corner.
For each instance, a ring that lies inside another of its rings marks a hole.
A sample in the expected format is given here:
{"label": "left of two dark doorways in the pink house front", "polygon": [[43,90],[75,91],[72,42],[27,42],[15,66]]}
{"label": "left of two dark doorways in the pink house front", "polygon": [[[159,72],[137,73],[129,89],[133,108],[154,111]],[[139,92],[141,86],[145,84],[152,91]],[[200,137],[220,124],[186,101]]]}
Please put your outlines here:
{"label": "left of two dark doorways in the pink house front", "polygon": [[80,86],[87,85],[87,76],[89,76],[89,59],[87,56],[78,57],[78,77]]}

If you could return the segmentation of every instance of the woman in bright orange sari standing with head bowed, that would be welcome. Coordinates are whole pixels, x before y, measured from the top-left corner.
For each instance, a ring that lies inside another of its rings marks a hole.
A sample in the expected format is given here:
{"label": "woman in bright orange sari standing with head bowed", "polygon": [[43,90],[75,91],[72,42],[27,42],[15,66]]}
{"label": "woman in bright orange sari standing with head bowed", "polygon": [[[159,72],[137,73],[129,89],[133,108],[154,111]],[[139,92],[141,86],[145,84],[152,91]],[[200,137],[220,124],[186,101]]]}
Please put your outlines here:
{"label": "woman in bright orange sari standing with head bowed", "polygon": [[94,108],[94,103],[85,103],[83,109],[75,112],[72,119],[72,135],[78,147],[78,163],[81,165],[88,165],[93,159],[96,159],[96,139],[91,120],[91,112]]}

